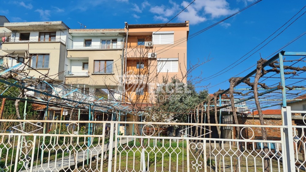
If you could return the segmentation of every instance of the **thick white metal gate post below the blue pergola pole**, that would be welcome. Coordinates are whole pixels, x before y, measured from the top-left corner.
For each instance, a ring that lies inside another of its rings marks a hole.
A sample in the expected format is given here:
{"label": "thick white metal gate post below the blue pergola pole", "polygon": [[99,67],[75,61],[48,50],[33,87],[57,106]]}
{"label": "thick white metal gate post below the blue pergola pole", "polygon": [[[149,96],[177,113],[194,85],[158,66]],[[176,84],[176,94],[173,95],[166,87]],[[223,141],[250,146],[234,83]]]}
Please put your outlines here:
{"label": "thick white metal gate post below the blue pergola pole", "polygon": [[283,167],[284,171],[295,171],[294,163],[294,145],[293,145],[293,128],[292,128],[292,118],[291,118],[291,107],[282,107],[283,125],[287,126],[282,129],[282,149],[283,153]]}

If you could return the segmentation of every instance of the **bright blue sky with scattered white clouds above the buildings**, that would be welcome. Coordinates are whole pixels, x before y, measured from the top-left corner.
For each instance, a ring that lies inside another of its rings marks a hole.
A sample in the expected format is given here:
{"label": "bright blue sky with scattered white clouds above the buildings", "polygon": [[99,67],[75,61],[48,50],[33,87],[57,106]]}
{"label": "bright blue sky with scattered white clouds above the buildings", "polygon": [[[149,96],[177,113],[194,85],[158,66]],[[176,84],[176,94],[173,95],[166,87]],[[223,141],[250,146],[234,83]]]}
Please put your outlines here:
{"label": "bright blue sky with scattered white clouds above the buildings", "polygon": [[[2,2],[0,15],[5,15],[10,22],[63,21],[70,28],[80,28],[80,24],[77,23],[79,21],[86,25],[87,28],[123,28],[125,21],[129,24],[166,23],[190,2],[190,0],[4,1]],[[255,1],[196,0],[171,22],[189,20],[189,35],[191,35],[243,9],[252,2]],[[194,64],[198,59],[203,62],[208,57],[211,58],[210,62],[193,71],[192,75],[197,76],[202,71],[203,78],[209,77],[237,61],[285,24],[305,5],[305,0],[263,0],[223,23],[189,39],[188,62]],[[306,8],[293,20],[305,11]],[[282,30],[278,31],[275,36]],[[227,89],[229,87],[228,81],[221,82],[256,64],[256,61],[260,58],[259,53],[261,57],[266,58],[305,31],[306,14],[297,19],[284,32],[241,64],[233,65],[224,70],[226,72],[220,76],[207,79],[197,84],[197,86],[209,85],[208,89],[211,93],[219,88]],[[255,52],[260,47],[262,46],[259,46],[252,52]],[[306,51],[306,35],[283,50]],[[238,76],[244,77],[253,69],[255,67]],[[197,90],[200,89],[197,88]]]}

